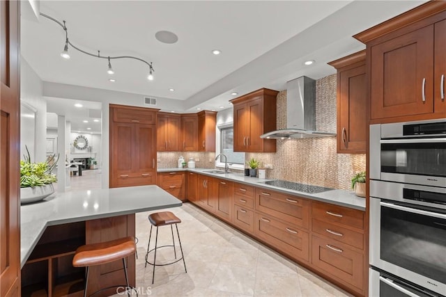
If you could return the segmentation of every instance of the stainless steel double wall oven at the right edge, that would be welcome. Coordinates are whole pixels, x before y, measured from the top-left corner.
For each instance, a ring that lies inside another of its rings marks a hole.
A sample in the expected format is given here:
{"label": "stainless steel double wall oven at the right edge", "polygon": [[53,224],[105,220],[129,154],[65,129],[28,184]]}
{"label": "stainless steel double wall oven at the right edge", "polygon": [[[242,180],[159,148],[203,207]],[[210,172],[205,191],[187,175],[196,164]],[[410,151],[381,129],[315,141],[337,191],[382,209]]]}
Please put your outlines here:
{"label": "stainless steel double wall oven at the right edge", "polygon": [[369,296],[446,296],[446,119],[370,126]]}

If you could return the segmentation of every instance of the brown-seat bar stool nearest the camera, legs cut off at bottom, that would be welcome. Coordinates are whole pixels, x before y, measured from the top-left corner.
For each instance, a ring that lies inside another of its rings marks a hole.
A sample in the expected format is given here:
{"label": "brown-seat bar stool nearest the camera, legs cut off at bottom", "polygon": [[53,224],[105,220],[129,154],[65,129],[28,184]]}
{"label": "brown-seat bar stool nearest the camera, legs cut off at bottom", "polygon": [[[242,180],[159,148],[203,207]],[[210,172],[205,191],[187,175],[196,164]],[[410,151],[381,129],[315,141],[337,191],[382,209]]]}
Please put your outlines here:
{"label": "brown-seat bar stool nearest the camera, legs cut off at bottom", "polygon": [[[86,244],[84,246],[79,246],[79,248],[77,248],[76,250],[75,257],[73,257],[72,259],[72,266],[86,267],[84,297],[86,296],[87,286],[89,284],[90,266],[107,264],[110,262],[114,262],[118,259],[123,259],[126,289],[134,289],[130,287],[130,284],[128,282],[127,265],[125,264],[125,257],[134,254],[136,250],[137,246],[134,243],[134,237],[132,236],[102,243],[92,243],[92,244]],[[112,287],[124,287],[124,286],[116,285]],[[110,289],[112,287],[100,289],[99,291],[96,291],[94,294],[97,294],[105,289]]]}

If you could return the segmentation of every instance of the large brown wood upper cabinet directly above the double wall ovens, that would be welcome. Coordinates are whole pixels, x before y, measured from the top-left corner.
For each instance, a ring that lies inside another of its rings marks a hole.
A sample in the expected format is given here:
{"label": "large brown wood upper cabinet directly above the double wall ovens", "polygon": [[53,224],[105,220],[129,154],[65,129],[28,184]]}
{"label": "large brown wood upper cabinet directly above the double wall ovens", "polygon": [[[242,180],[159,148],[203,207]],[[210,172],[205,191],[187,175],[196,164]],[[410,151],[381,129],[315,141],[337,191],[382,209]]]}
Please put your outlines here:
{"label": "large brown wood upper cabinet directly above the double wall ovens", "polygon": [[445,19],[446,2],[429,1],[354,36],[367,45],[372,123],[445,117]]}

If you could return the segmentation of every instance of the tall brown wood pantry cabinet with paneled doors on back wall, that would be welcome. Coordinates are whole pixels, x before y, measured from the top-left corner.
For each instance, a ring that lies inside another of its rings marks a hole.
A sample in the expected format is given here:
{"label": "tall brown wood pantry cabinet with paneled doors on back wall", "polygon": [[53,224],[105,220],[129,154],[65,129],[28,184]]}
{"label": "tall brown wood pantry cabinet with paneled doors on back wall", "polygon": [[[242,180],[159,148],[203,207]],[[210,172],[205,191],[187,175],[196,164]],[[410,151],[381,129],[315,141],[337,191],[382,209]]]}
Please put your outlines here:
{"label": "tall brown wood pantry cabinet with paneled doors on back wall", "polygon": [[110,188],[156,184],[157,111],[110,104]]}

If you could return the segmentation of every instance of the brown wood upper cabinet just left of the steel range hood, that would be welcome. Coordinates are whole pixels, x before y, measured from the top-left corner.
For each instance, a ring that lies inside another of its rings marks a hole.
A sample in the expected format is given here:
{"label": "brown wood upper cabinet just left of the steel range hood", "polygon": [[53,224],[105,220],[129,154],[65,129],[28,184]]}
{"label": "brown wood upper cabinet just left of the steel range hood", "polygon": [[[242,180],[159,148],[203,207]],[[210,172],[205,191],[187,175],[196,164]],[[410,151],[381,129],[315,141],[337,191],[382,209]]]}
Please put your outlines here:
{"label": "brown wood upper cabinet just left of the steel range hood", "polygon": [[276,129],[276,90],[262,88],[231,100],[234,152],[276,152],[275,139],[260,136]]}

